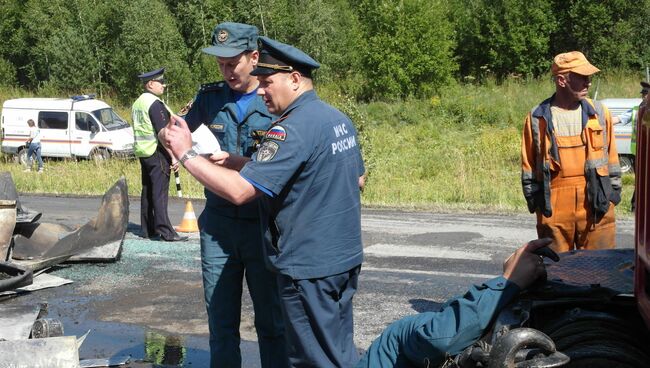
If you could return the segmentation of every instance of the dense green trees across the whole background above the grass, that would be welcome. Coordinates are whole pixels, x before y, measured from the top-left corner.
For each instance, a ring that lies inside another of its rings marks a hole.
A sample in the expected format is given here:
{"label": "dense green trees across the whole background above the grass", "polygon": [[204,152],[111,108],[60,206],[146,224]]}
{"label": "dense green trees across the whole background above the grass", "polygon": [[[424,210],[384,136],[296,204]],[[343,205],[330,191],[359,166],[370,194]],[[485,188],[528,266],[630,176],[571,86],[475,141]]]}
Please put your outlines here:
{"label": "dense green trees across the whole background above the grass", "polygon": [[222,21],[319,60],[321,84],[366,100],[432,97],[454,81],[538,77],[582,50],[603,70],[650,62],[650,0],[1,0],[0,84],[121,102],[166,66],[168,98],[219,78],[201,53]]}

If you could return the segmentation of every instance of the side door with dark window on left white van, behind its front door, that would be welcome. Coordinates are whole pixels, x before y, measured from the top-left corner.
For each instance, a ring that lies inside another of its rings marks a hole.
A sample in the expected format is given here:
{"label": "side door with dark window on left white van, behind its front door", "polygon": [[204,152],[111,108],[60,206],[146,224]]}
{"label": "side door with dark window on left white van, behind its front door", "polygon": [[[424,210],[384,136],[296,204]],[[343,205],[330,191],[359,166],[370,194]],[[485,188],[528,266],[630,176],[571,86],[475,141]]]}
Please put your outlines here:
{"label": "side door with dark window on left white van, behind its front door", "polygon": [[67,112],[39,111],[38,127],[41,129],[41,154],[43,156],[70,156]]}

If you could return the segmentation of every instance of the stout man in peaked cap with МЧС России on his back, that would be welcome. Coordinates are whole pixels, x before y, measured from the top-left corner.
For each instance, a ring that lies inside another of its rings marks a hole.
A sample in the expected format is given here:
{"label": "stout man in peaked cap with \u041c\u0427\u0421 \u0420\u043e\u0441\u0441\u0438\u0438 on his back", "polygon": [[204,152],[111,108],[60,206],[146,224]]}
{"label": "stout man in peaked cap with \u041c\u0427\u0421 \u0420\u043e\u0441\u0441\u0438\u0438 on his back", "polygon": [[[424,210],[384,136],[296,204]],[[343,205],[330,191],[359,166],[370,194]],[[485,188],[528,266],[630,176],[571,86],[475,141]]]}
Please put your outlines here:
{"label": "stout man in peaked cap with \u041c\u0427\u0421 \u0420\u043e\u0441\u0441\u0438\u0438 on his back", "polygon": [[321,101],[304,52],[260,37],[257,93],[279,115],[240,171],[195,157],[182,119],[163,142],[203,185],[233,203],[263,198],[292,366],[350,367],[357,360],[352,297],[363,260],[360,177],[364,165],[350,119]]}

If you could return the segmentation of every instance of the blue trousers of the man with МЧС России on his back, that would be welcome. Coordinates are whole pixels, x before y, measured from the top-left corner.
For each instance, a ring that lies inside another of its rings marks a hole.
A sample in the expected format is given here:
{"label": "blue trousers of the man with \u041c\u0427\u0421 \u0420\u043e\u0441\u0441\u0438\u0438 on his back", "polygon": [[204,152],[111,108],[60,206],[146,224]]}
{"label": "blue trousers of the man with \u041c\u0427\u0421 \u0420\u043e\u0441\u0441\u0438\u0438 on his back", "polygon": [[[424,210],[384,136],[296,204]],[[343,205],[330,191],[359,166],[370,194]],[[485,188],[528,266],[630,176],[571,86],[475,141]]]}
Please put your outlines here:
{"label": "blue trousers of the man with \u041c\u0427\u0421 \u0420\u043e\u0441\u0441\u0438\u0438 on his back", "polygon": [[319,279],[278,275],[292,367],[352,367],[359,360],[352,297],[360,268]]}

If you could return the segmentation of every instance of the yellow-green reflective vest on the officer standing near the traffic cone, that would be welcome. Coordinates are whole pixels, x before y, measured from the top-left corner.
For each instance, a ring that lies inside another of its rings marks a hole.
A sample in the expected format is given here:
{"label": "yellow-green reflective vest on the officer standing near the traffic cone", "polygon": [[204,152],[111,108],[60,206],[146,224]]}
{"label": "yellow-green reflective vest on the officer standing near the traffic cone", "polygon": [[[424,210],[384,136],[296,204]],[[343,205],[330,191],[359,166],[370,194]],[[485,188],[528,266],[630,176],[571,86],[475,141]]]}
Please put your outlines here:
{"label": "yellow-green reflective vest on the officer standing near the traffic cone", "polygon": [[[151,123],[151,118],[149,118],[149,108],[156,101],[160,101],[160,99],[155,95],[143,93],[133,103],[133,139],[135,141],[133,151],[136,157],[149,157],[153,155],[158,146],[156,131]],[[162,101],[160,102],[162,103]],[[165,103],[163,103],[163,106],[172,114]]]}

